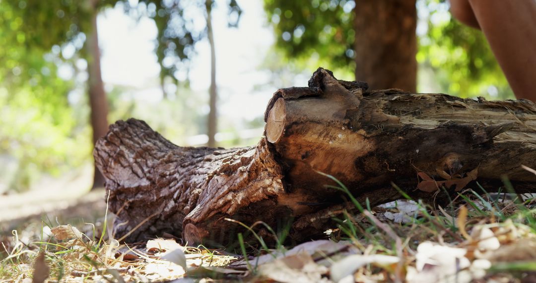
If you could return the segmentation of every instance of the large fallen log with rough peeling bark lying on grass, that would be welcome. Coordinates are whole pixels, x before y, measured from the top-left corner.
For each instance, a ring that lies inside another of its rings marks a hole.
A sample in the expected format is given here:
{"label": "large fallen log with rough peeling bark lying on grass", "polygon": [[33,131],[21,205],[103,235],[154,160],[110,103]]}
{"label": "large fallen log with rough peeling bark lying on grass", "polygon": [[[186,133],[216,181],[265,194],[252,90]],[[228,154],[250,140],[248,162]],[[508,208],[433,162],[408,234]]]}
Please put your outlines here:
{"label": "large fallen log with rough peeling bark lying on grass", "polygon": [[127,241],[167,232],[189,243],[226,243],[237,225],[225,218],[272,227],[292,218],[291,237],[303,241],[322,235],[346,206],[346,196],[315,171],[371,205],[400,197],[391,182],[430,200],[434,193],[425,190],[434,184],[454,191],[477,178],[496,190],[507,174],[518,192],[536,192],[536,176],[521,167],[536,168],[535,113],[526,100],[367,91],[366,83],[319,68],[309,87],[273,95],[257,146],[179,147],[130,119],[110,126],[94,157],[117,234],[146,220]]}

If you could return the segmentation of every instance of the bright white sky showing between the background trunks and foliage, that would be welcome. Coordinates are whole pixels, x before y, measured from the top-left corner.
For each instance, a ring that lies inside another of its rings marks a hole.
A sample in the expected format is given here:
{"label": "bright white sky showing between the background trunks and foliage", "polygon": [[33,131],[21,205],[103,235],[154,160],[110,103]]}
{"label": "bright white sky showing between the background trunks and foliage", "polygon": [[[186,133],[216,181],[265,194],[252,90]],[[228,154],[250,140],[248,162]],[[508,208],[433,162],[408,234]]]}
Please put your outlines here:
{"label": "bright white sky showing between the background trunks and foliage", "polygon": [[[227,27],[225,1],[217,1],[213,11],[220,115],[252,119],[264,113],[272,94],[271,91],[255,91],[254,86],[269,83],[269,73],[257,67],[272,46],[274,35],[265,23],[262,2],[242,1],[240,6],[243,14],[238,28]],[[121,7],[116,7],[101,14],[98,24],[105,83],[132,88],[130,92],[139,100],[160,100],[159,66],[153,51],[157,35],[154,23],[146,18],[137,23],[125,15]],[[196,51],[190,86],[197,93],[205,93],[210,85],[208,41],[199,42]],[[185,78],[186,74],[180,76]],[[307,81],[300,83],[305,85]],[[174,92],[175,87],[169,84],[167,90]],[[208,111],[208,106],[206,108]]]}

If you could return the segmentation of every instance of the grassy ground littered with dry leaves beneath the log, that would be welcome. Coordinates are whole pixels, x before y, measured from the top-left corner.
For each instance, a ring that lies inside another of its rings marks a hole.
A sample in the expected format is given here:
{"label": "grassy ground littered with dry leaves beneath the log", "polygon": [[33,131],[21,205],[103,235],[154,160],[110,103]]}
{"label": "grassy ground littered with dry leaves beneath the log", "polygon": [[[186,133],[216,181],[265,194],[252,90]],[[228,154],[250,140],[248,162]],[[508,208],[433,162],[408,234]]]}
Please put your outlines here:
{"label": "grassy ground littered with dry leaves beneath the log", "polygon": [[13,197],[0,204],[0,282],[536,282],[534,196],[475,191],[448,207],[403,199],[346,215],[326,240],[290,247],[274,233],[276,247],[239,237],[226,250],[173,235],[120,244],[103,190],[41,196],[28,202],[40,213],[6,219]]}

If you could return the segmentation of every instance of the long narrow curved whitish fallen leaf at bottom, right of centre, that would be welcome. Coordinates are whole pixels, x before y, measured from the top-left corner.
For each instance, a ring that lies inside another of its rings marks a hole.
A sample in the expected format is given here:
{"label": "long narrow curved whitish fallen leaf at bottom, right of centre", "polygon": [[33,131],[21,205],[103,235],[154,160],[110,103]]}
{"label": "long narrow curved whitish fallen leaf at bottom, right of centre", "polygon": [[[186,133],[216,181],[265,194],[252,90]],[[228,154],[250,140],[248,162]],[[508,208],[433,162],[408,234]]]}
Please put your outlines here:
{"label": "long narrow curved whitish fallen leaf at bottom, right of centre", "polygon": [[334,263],[330,269],[331,280],[339,282],[356,270],[367,264],[375,264],[379,266],[388,266],[398,263],[400,258],[396,256],[386,255],[351,255],[347,256],[338,262]]}

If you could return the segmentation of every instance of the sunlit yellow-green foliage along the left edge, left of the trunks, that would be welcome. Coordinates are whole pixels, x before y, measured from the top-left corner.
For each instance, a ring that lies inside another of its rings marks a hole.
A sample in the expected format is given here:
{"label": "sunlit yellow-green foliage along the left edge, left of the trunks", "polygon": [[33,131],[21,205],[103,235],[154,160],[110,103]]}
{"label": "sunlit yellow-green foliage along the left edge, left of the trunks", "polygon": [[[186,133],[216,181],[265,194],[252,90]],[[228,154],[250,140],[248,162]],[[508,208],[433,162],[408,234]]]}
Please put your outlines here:
{"label": "sunlit yellow-green foliage along the left edge, left of the trunks", "polygon": [[46,56],[25,32],[18,4],[0,2],[0,155],[17,166],[8,188],[24,190],[40,172],[57,175],[80,165],[90,153],[83,123],[73,119],[67,95],[73,83],[59,78],[65,61]]}

